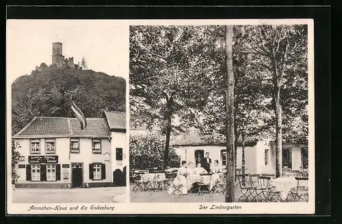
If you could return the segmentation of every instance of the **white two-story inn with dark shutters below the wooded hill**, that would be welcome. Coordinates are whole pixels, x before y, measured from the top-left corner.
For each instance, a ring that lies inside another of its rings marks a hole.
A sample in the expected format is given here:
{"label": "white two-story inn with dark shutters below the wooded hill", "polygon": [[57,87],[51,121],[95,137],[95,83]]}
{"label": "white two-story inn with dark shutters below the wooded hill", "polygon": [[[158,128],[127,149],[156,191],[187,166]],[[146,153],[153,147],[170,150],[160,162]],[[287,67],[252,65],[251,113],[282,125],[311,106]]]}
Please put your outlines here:
{"label": "white two-story inn with dark shutters below the wooded hill", "polygon": [[16,133],[14,145],[25,158],[16,187],[113,186],[114,171],[127,165],[125,113],[86,120],[81,130],[76,118],[34,117]]}

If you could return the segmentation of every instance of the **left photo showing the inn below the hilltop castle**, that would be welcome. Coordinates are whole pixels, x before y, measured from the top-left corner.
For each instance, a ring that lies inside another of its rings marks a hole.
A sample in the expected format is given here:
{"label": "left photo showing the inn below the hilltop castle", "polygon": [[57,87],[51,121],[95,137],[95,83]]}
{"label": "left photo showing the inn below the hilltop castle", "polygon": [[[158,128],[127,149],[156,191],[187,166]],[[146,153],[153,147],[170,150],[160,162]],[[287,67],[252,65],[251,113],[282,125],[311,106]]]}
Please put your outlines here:
{"label": "left photo showing the inn below the hilltop castle", "polygon": [[7,23],[12,203],[126,202],[127,28]]}

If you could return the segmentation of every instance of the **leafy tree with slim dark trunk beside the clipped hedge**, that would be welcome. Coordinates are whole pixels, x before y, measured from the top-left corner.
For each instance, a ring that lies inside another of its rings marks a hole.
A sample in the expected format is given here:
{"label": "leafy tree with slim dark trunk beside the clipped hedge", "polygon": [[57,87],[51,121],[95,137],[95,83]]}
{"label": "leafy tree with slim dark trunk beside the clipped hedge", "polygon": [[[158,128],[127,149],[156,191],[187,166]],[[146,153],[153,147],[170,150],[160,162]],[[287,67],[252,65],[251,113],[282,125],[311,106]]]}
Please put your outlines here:
{"label": "leafy tree with slim dark trunk beside the clipped hedge", "polygon": [[[182,131],[192,111],[203,107],[211,91],[209,38],[215,27],[130,27],[131,124],[159,124],[166,135],[167,166],[172,131]],[[140,108],[142,110],[139,110]],[[175,122],[178,118],[179,122]]]}

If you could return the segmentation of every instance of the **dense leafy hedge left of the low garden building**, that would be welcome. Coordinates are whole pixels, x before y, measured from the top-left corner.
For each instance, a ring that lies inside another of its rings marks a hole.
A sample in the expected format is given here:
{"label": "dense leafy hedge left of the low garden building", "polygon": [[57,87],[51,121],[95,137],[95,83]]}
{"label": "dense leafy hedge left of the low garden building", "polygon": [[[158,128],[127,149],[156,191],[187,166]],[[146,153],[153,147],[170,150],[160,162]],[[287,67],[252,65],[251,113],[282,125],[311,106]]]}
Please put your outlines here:
{"label": "dense leafy hedge left of the low garden building", "polygon": [[[132,169],[163,167],[165,137],[157,134],[129,137],[129,165]],[[181,158],[170,145],[168,167],[179,167]]]}

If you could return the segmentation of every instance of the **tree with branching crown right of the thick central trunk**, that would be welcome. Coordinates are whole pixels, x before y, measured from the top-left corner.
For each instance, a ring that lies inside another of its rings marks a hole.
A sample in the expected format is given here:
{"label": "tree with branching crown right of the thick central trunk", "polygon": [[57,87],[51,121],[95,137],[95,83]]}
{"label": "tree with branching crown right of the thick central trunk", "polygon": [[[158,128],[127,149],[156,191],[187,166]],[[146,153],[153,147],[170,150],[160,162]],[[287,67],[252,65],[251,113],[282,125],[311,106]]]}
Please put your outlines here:
{"label": "tree with branching crown right of the thick central trunk", "polygon": [[[276,133],[276,177],[282,176],[282,113],[302,110],[307,94],[289,97],[289,88],[295,80],[305,83],[307,76],[307,27],[305,25],[242,26],[241,42],[237,53],[245,54],[246,61],[254,71],[254,78],[265,81],[263,92],[272,98]],[[298,75],[299,74],[299,75]],[[304,88],[304,89],[303,89]],[[295,89],[292,88],[292,89]],[[306,92],[305,87],[300,87]],[[298,93],[298,90],[295,91]],[[291,94],[293,96],[293,94]],[[281,96],[285,102],[282,103]],[[287,108],[285,108],[287,107]],[[292,113],[293,115],[293,113]],[[292,116],[293,117],[293,116]]]}

